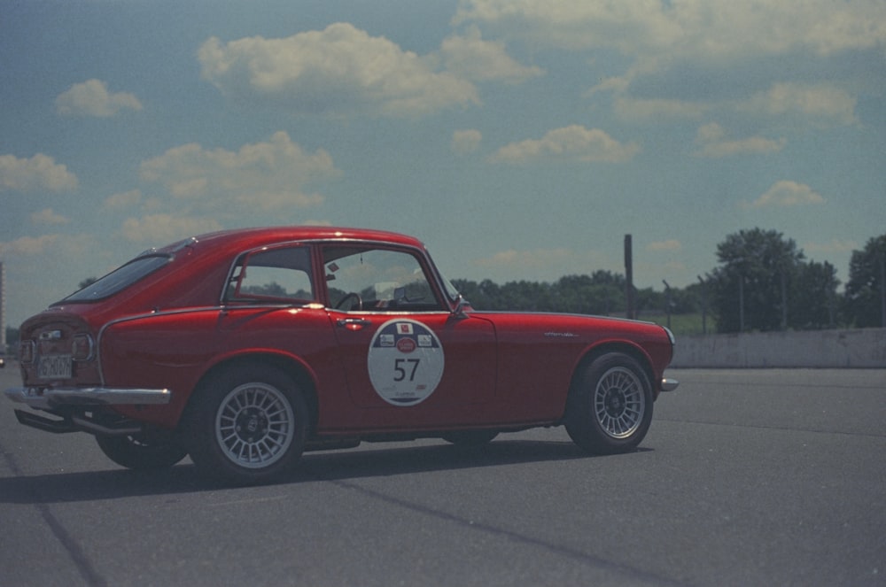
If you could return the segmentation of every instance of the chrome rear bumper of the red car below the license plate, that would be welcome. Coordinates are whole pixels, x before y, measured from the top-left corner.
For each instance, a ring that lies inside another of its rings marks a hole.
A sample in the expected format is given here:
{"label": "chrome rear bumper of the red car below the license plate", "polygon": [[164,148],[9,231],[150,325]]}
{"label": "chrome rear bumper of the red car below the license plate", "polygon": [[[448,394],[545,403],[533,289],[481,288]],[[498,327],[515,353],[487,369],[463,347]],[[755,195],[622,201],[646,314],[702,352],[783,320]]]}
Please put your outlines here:
{"label": "chrome rear bumper of the red car below the license plate", "polygon": [[4,390],[7,398],[37,410],[59,405],[134,405],[168,404],[170,390],[113,389],[107,387],[13,387]]}

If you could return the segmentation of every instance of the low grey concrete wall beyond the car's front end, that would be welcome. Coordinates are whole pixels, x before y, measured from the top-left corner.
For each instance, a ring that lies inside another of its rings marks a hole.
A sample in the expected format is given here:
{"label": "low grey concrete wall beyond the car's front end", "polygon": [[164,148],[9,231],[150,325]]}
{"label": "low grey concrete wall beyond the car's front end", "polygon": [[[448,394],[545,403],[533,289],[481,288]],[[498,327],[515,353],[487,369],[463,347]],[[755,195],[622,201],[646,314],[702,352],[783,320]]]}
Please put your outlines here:
{"label": "low grey concrete wall beyond the car's front end", "polygon": [[886,368],[886,328],[679,336],[671,366]]}

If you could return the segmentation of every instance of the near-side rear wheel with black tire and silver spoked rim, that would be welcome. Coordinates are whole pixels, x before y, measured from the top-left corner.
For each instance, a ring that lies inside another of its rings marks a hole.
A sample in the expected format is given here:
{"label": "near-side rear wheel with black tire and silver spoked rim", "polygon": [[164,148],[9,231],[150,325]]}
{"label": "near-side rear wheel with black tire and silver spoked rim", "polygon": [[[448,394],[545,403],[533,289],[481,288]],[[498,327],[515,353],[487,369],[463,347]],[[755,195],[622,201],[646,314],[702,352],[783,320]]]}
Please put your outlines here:
{"label": "near-side rear wheel with black tire and silver spoked rim", "polygon": [[268,483],[305,448],[307,402],[276,367],[242,365],[210,375],[191,398],[184,436],[209,476],[238,485]]}

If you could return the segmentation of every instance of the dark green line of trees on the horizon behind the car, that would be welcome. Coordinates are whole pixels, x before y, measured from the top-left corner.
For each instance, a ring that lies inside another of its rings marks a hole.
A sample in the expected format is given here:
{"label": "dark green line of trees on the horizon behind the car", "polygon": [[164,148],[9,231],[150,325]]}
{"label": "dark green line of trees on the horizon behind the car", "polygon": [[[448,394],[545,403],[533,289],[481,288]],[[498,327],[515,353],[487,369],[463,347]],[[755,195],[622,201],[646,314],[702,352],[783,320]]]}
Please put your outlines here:
{"label": "dark green line of trees on the horizon behind the car", "polygon": [[[886,327],[886,234],[852,251],[849,281],[838,293],[836,269],[807,260],[797,243],[753,228],[717,246],[719,266],[685,288],[634,290],[635,308],[649,314],[708,313],[721,333]],[[624,315],[626,278],[610,271],[566,275],[556,282],[454,280],[478,310]]]}

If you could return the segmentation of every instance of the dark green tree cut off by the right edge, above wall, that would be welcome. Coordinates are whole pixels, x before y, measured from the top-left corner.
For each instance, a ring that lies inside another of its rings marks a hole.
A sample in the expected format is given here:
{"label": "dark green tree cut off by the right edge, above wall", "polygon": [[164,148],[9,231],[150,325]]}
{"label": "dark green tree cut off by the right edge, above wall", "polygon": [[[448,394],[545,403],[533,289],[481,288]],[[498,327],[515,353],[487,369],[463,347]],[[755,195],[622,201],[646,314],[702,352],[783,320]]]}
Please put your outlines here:
{"label": "dark green tree cut off by the right edge, above wall", "polygon": [[852,251],[849,281],[843,298],[843,314],[857,328],[886,327],[883,308],[886,234],[867,241],[864,250]]}

